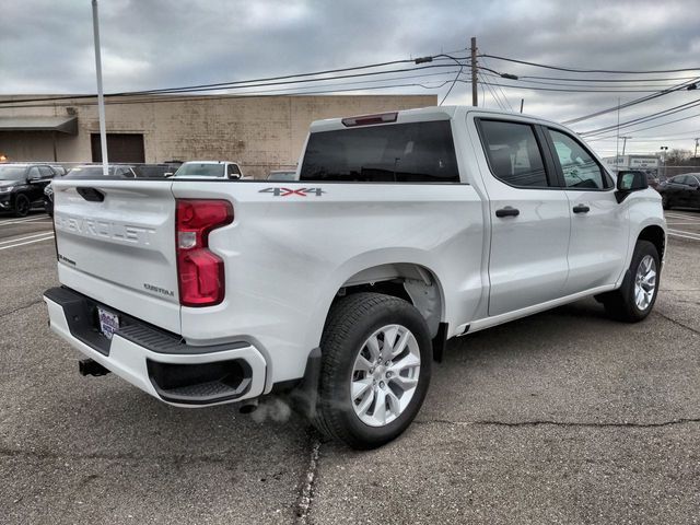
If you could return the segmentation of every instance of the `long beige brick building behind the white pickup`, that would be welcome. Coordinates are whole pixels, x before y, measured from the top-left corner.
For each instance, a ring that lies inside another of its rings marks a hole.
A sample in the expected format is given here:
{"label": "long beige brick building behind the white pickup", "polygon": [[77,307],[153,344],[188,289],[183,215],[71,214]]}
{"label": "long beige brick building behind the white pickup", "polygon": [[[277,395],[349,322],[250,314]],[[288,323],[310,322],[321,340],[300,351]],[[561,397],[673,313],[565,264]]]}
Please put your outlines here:
{"label": "long beige brick building behind the white pickup", "polygon": [[[0,156],[10,162],[101,161],[94,98],[16,104],[51,96],[0,96]],[[436,103],[436,95],[112,97],[106,105],[108,159],[228,160],[246,174],[265,176],[295,166],[313,120]]]}

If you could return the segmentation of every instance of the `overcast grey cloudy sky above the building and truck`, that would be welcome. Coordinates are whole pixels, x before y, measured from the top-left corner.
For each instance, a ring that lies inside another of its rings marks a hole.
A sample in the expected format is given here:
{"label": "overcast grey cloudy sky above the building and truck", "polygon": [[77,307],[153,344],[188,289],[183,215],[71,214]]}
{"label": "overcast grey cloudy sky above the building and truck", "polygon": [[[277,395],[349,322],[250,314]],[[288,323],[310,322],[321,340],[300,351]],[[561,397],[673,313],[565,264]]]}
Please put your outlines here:
{"label": "overcast grey cloudy sky above the building and truck", "polygon": [[[466,56],[467,51],[458,50],[468,47],[470,36],[478,38],[480,52],[545,65],[639,71],[700,68],[697,0],[102,0],[100,10],[107,93],[301,73],[441,51]],[[5,0],[0,16],[0,92],[94,93],[92,38],[90,0]],[[586,85],[598,89],[628,85],[629,90],[648,91],[572,93],[505,88],[497,92],[503,105],[508,105],[508,101],[518,110],[521,98],[525,98],[525,113],[558,121],[616,106],[618,97],[623,104],[685,82],[687,78],[700,77],[700,69],[634,75],[575,74],[492,58],[479,60],[481,66],[518,75],[633,79],[634,86],[626,83]],[[374,92],[436,93],[442,100],[457,69],[432,68],[371,77],[377,82],[348,88],[420,82],[429,89],[412,85]],[[417,74],[430,77],[388,80]],[[467,69],[460,78],[469,80]],[[657,81],[660,79],[662,81]],[[447,80],[448,83],[441,85]],[[524,80],[499,79],[499,82],[565,89]],[[331,82],[334,88],[327,89],[337,89],[340,82],[349,80]],[[581,82],[573,84],[582,85]],[[262,89],[270,88],[258,88]],[[479,89],[479,105],[499,107],[489,88],[482,89]],[[622,109],[619,118],[625,122],[698,100],[700,90],[674,92]],[[470,103],[470,85],[456,83],[446,104]],[[627,142],[627,153],[655,152],[661,145],[692,150],[693,138],[700,137],[699,108],[622,129],[620,136],[632,137]],[[587,131],[614,125],[617,118],[617,112],[612,112],[572,127]],[[679,118],[684,120],[641,129]],[[615,154],[615,130],[603,133],[600,137],[609,138],[591,144],[604,156]]]}

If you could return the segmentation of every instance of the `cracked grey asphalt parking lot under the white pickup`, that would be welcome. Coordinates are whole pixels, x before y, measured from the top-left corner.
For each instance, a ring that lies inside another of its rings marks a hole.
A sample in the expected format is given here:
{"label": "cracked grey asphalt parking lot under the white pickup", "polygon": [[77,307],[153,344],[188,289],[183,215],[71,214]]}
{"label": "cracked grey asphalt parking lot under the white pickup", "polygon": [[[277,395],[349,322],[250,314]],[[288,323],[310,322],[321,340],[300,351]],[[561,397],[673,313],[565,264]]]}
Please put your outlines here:
{"label": "cracked grey asphalt parking lot under the white pickup", "polygon": [[667,220],[645,322],[586,300],[453,341],[416,423],[359,453],[278,401],[81,377],[40,300],[50,220],[0,217],[0,522],[699,523],[700,212]]}

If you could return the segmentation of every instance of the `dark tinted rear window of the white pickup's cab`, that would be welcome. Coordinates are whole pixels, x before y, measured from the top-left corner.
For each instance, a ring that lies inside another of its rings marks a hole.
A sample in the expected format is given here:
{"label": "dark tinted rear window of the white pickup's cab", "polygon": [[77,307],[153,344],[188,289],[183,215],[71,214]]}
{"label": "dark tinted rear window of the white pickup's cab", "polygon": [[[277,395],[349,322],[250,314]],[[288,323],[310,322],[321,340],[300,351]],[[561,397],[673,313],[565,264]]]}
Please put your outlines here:
{"label": "dark tinted rear window of the white pickup's cab", "polygon": [[458,183],[450,121],[311,133],[300,180]]}

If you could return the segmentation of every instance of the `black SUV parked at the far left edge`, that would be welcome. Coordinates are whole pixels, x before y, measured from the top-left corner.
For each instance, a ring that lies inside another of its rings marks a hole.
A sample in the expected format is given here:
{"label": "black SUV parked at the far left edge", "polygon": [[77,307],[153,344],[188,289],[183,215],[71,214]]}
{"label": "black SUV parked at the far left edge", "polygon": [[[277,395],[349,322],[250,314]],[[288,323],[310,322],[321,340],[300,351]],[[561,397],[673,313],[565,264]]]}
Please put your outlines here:
{"label": "black SUV parked at the far left edge", "polygon": [[48,164],[0,164],[0,211],[26,217],[44,201],[44,188],[57,171]]}

